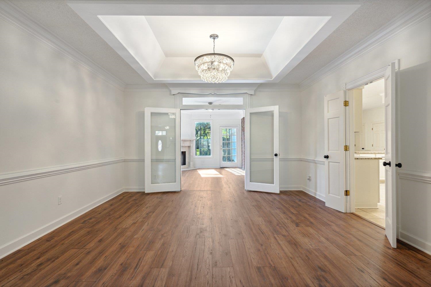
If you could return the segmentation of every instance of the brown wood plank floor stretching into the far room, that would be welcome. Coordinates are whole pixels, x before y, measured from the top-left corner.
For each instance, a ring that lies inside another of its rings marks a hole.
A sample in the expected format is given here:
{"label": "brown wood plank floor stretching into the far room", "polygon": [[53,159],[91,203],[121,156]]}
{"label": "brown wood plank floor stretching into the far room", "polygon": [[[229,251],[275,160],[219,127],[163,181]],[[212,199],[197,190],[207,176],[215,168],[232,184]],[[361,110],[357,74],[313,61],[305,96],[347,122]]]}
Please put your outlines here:
{"label": "brown wood plank floor stretching into the far room", "polygon": [[217,171],[120,194],[0,259],[0,286],[429,286],[431,257],[378,226]]}

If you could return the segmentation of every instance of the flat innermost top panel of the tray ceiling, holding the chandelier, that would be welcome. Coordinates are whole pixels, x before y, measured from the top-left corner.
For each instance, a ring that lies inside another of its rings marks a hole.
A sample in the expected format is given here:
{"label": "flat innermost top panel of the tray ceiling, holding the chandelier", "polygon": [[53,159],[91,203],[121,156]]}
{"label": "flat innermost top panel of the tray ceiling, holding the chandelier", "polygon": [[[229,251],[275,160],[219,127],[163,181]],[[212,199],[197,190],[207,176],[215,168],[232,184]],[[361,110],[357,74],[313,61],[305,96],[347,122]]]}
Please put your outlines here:
{"label": "flat innermost top panel of the tray ceiling, holding the chandelier", "polygon": [[[136,16],[139,17],[139,16]],[[145,16],[166,57],[212,52],[210,34],[218,34],[215,51],[229,56],[260,57],[283,17]],[[212,32],[211,32],[212,31]]]}

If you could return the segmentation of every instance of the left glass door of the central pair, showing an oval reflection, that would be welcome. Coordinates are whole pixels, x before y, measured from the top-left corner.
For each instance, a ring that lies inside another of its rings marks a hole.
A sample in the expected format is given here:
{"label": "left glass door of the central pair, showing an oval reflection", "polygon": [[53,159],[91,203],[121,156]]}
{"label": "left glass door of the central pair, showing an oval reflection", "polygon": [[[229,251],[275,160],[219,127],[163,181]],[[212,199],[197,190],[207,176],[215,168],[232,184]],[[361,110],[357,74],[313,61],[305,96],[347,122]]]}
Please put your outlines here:
{"label": "left glass door of the central pair, showing an oval reflection", "polygon": [[145,192],[181,190],[180,109],[145,108]]}

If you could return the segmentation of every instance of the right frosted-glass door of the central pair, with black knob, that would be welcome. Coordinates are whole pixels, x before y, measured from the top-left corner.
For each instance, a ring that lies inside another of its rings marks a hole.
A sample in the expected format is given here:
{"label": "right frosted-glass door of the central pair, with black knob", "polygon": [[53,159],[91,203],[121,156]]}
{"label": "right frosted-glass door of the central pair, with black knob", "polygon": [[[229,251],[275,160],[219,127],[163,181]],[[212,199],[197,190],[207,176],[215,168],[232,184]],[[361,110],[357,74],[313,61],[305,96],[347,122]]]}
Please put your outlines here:
{"label": "right frosted-glass door of the central pair, with black knob", "polygon": [[280,193],[278,106],[245,110],[245,189]]}

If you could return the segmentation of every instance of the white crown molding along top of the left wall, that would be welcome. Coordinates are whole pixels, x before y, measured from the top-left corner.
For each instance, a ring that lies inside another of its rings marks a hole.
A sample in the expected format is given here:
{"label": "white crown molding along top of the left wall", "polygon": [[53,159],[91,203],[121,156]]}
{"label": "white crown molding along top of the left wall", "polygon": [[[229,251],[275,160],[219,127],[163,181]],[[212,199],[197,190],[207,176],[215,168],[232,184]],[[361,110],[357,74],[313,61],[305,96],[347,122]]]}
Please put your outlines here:
{"label": "white crown molding along top of the left wall", "polygon": [[93,60],[79,52],[64,40],[57,37],[9,1],[0,1],[0,19],[3,19],[9,24],[15,26],[75,64],[86,69],[100,79],[105,80],[112,86],[115,86],[117,89],[120,89],[121,91],[124,90],[125,83],[97,65]]}

